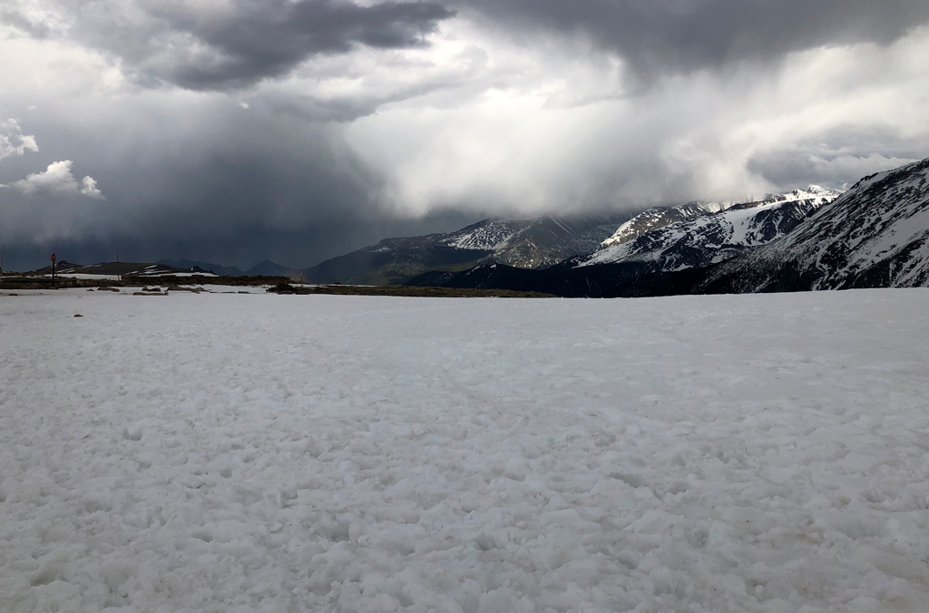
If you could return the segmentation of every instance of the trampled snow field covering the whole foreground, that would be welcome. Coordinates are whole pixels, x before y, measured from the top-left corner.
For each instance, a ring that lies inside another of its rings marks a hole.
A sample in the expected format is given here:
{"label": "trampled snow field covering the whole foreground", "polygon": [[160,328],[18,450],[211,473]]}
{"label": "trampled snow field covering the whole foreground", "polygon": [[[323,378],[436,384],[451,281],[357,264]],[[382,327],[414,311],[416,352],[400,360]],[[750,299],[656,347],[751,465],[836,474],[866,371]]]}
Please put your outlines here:
{"label": "trampled snow field covering the whole foreground", "polygon": [[0,296],[0,610],[926,611],[927,307]]}

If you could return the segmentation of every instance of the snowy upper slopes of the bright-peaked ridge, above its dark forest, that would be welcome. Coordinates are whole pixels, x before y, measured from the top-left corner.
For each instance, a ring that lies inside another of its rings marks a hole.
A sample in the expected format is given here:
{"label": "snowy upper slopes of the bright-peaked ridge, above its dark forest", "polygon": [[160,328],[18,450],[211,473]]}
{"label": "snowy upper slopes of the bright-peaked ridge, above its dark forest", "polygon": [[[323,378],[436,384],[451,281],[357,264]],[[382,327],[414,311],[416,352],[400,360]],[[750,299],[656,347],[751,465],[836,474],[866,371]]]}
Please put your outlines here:
{"label": "snowy upper slopes of the bright-peaked ridge, above its dark forest", "polygon": [[571,263],[594,266],[635,261],[653,263],[661,270],[707,266],[746,248],[777,241],[841,193],[811,185],[757,202],[688,202],[649,209],[623,224],[597,251]]}

